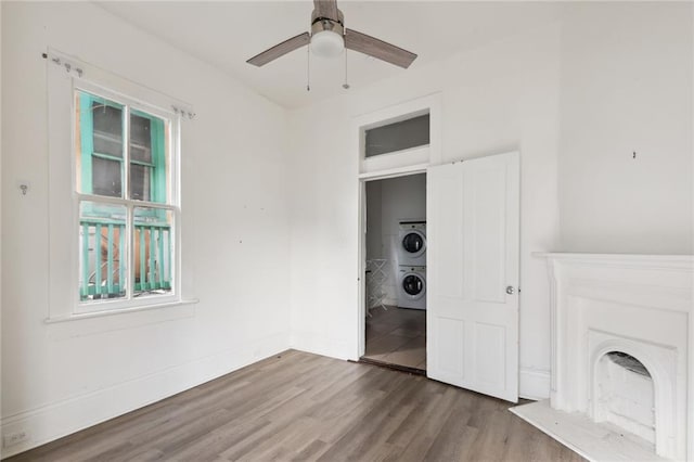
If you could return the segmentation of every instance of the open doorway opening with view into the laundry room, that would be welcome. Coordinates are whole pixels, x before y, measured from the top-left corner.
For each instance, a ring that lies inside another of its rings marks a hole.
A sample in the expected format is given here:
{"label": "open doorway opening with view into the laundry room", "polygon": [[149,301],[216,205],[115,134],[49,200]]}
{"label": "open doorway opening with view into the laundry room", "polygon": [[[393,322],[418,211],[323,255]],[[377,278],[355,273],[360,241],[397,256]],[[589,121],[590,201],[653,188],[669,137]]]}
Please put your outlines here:
{"label": "open doorway opening with view into the laundry room", "polygon": [[365,323],[361,360],[426,371],[426,174],[364,184]]}

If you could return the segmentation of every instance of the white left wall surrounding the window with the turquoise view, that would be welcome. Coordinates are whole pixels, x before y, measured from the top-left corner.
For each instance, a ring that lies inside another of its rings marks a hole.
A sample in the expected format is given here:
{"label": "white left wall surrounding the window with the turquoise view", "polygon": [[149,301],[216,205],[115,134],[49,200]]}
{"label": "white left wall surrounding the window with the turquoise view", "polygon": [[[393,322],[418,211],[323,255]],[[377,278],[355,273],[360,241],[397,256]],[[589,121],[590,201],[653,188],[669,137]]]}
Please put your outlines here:
{"label": "white left wall surrounding the window with the turquoise view", "polygon": [[[284,110],[93,3],[2,2],[2,433],[30,435],[5,455],[287,348]],[[197,305],[44,323],[47,47],[194,105],[182,271]]]}

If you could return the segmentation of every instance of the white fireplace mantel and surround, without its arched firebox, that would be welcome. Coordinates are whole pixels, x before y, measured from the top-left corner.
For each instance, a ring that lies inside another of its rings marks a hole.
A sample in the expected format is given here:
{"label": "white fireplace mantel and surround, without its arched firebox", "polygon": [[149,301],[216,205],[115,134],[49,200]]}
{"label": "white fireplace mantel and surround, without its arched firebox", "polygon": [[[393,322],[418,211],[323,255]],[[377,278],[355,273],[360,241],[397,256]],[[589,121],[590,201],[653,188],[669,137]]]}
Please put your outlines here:
{"label": "white fireplace mantel and surround, without its arched firebox", "polygon": [[694,460],[694,256],[535,256],[551,282],[551,410],[593,419],[596,361],[608,349],[633,355],[654,375],[655,450]]}

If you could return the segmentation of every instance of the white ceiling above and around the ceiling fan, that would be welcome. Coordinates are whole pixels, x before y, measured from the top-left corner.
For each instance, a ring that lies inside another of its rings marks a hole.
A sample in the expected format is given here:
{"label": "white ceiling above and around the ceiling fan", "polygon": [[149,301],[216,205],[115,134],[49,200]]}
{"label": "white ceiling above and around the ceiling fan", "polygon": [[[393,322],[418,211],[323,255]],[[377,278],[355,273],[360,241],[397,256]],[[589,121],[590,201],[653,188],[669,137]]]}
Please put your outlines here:
{"label": "white ceiling above and around the ceiling fan", "polygon": [[[346,91],[345,60],[310,60],[307,49],[256,67],[246,60],[309,30],[312,1],[99,2],[107,11],[213,64],[285,107],[299,107]],[[410,69],[457,52],[538,27],[558,17],[555,2],[338,1],[345,26],[419,54]],[[401,69],[348,52],[351,89]]]}

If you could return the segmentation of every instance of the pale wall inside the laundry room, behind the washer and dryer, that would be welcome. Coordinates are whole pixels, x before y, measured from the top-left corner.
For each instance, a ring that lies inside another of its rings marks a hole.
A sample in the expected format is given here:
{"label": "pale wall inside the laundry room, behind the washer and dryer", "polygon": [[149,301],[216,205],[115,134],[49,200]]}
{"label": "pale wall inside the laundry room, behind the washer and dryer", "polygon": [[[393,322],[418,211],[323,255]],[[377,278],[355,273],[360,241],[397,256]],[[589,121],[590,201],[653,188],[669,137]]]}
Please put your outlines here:
{"label": "pale wall inside the laundry room, behind the washer and dryer", "polygon": [[401,220],[426,219],[426,175],[368,182],[367,215],[367,258],[388,260],[385,304],[397,305],[399,224]]}

